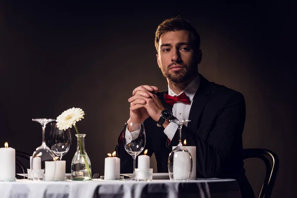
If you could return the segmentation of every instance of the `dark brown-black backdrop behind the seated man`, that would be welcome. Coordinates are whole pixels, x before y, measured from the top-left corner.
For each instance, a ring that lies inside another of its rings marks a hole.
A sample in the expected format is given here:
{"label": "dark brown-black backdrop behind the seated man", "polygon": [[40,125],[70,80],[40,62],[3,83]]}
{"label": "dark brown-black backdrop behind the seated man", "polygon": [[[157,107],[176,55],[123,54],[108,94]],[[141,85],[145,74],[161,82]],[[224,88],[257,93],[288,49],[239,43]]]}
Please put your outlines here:
{"label": "dark brown-black backdrop behind the seated man", "polygon": [[[245,96],[244,148],[278,154],[272,197],[296,194],[293,6],[183,4],[1,1],[0,147],[8,142],[33,153],[42,133],[32,118],[56,118],[80,107],[86,115],[77,126],[87,134],[92,172],[103,175],[106,153],[114,151],[129,117],[132,90],[142,84],[167,89],[156,63],[154,32],[162,20],[179,15],[201,36],[199,72]],[[63,158],[67,172],[76,151],[74,128],[71,132],[73,144]],[[151,167],[155,172],[154,157]],[[258,194],[264,165],[253,159],[245,167]]]}

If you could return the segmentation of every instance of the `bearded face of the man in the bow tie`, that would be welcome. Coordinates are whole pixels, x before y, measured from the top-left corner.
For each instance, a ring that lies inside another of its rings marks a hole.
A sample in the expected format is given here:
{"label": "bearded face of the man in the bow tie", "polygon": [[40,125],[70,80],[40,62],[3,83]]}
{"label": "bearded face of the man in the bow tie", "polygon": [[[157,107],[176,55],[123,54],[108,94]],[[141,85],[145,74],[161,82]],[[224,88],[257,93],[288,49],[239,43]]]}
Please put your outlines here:
{"label": "bearded face of the man in the bow tie", "polygon": [[180,84],[196,76],[199,53],[191,46],[185,30],[167,32],[159,40],[158,65],[167,79]]}

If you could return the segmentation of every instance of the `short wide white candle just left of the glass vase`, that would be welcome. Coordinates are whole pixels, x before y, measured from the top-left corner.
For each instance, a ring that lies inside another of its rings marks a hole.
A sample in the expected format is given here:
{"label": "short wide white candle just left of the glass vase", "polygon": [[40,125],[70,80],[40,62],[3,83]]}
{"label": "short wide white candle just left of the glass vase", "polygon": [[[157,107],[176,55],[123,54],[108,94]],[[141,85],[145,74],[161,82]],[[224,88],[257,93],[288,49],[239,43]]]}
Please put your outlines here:
{"label": "short wide white candle just left of the glass vase", "polygon": [[46,161],[45,180],[64,181],[66,172],[66,161]]}

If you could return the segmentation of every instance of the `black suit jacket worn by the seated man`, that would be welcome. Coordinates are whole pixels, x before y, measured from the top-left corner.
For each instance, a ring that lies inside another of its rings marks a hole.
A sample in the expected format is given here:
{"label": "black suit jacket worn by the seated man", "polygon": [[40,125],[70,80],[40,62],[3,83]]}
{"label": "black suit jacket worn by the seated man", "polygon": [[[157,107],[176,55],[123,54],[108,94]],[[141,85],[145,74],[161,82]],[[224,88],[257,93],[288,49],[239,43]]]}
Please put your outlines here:
{"label": "black suit jacket worn by the seated man", "polygon": [[[159,99],[165,108],[172,109],[161,93]],[[189,114],[191,122],[182,128],[182,141],[187,146],[196,146],[198,178],[234,178],[241,188],[250,188],[245,177],[242,160],[242,134],[246,119],[244,96],[225,86],[207,81],[201,76]],[[168,145],[163,127],[157,127],[156,121],[148,118],[145,122],[146,148],[151,156],[155,154],[157,172],[168,172],[168,155],[173,146],[177,146],[179,137],[175,133]],[[122,147],[122,133],[116,146],[121,158],[121,172],[133,172],[132,156]],[[144,150],[145,150],[144,149]],[[251,190],[251,189],[249,189]]]}

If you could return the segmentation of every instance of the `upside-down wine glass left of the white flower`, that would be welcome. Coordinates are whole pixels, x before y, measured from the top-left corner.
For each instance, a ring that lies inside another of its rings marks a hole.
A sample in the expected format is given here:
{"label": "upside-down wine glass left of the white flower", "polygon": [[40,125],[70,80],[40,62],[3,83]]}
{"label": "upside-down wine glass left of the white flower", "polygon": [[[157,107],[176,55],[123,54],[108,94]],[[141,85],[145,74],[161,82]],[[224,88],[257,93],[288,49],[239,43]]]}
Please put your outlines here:
{"label": "upside-down wine glass left of the white flower", "polygon": [[[39,122],[42,126],[42,145],[33,152],[32,161],[31,161],[31,168],[35,172],[40,172],[38,170],[45,168],[46,161],[55,161],[57,156],[51,151],[51,149],[47,146],[45,141],[45,131],[46,125],[49,122],[54,121],[54,119],[47,119],[47,118],[38,118],[32,119],[33,121]],[[39,157],[39,158],[37,158]],[[35,160],[36,159],[36,160]],[[42,179],[42,176],[35,175],[33,172],[33,178]]]}

